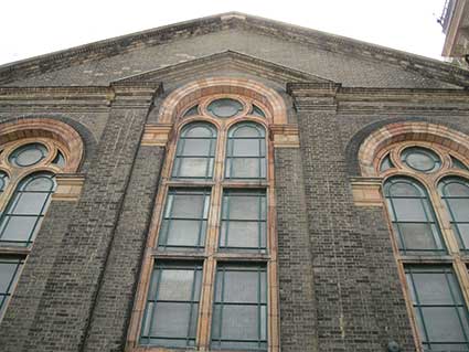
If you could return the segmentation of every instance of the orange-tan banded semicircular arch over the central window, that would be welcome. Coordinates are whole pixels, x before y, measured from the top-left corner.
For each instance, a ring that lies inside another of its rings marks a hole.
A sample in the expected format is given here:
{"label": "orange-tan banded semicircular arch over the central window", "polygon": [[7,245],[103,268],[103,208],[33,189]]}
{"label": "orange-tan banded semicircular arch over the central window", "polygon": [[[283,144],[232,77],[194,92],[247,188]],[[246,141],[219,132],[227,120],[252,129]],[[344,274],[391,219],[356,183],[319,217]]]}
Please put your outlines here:
{"label": "orange-tan banded semicircular arch over the central window", "polygon": [[160,122],[171,124],[177,116],[201,97],[215,94],[248,96],[260,102],[268,109],[274,124],[287,124],[287,108],[278,93],[252,79],[228,77],[200,79],[174,90],[160,108]]}

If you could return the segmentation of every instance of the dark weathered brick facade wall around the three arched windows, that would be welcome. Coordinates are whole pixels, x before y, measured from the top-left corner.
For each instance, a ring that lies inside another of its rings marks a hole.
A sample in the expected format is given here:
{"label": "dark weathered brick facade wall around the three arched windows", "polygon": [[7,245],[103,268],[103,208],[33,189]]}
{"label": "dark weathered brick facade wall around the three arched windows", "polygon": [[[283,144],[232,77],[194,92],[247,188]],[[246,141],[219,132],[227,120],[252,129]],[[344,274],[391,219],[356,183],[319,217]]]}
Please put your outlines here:
{"label": "dark weathered brick facade wall around the three arched windows", "polygon": [[[202,85],[204,95],[221,93],[220,79],[257,87],[226,92],[262,100],[275,90],[283,100],[268,134],[281,351],[384,352],[390,341],[415,351],[384,207],[358,206],[352,181],[363,175],[363,141],[388,124],[427,121],[469,136],[469,73],[263,19],[222,18],[0,67],[0,129],[57,120],[84,148],[83,191],[52,201],[0,322],[1,351],[136,352],[129,324],[178,122],[161,106],[185,109]],[[188,102],[170,102],[188,87]]]}

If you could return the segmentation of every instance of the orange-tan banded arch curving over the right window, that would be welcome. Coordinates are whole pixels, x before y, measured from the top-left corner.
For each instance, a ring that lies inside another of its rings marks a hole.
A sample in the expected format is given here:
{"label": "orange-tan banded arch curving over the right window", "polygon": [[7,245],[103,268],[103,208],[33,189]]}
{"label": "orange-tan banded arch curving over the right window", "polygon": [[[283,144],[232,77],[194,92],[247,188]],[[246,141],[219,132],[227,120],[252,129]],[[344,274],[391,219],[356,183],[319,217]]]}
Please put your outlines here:
{"label": "orange-tan banded arch curving over the right window", "polygon": [[360,147],[362,175],[377,175],[375,160],[380,151],[394,142],[405,140],[427,141],[445,146],[462,156],[469,154],[469,137],[446,126],[429,122],[391,124],[370,135]]}

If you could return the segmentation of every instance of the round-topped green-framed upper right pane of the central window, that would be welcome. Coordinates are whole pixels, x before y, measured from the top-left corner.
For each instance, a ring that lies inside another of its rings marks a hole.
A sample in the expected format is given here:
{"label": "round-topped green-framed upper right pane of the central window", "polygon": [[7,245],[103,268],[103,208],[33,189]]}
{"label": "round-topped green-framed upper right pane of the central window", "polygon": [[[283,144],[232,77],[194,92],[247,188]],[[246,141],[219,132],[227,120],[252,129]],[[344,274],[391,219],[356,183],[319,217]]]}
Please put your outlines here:
{"label": "round-topped green-framed upper right pane of the central window", "polygon": [[255,122],[239,122],[228,130],[225,179],[266,179],[266,130]]}

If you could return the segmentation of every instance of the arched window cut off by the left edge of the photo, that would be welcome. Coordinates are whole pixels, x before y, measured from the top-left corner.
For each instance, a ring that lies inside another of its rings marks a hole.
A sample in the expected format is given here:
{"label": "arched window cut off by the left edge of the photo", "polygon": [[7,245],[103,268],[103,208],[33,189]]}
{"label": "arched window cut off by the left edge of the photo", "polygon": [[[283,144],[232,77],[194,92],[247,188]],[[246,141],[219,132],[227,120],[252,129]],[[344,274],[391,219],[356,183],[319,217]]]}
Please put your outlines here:
{"label": "arched window cut off by the left edge of the photo", "polygon": [[63,150],[40,137],[0,146],[0,319],[66,166]]}

